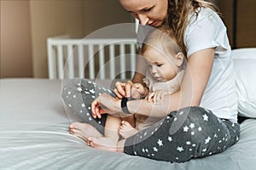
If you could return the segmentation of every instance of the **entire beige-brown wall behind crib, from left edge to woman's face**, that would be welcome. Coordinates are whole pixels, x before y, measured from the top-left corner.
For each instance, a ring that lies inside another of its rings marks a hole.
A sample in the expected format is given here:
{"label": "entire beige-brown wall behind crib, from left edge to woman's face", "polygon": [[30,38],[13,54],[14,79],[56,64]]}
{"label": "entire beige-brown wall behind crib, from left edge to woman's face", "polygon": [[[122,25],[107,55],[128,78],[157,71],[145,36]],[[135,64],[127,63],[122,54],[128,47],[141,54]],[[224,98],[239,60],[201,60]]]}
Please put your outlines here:
{"label": "entire beige-brown wall behind crib, from left edge to woman's face", "polygon": [[132,21],[116,0],[1,0],[1,77],[48,77],[47,37]]}

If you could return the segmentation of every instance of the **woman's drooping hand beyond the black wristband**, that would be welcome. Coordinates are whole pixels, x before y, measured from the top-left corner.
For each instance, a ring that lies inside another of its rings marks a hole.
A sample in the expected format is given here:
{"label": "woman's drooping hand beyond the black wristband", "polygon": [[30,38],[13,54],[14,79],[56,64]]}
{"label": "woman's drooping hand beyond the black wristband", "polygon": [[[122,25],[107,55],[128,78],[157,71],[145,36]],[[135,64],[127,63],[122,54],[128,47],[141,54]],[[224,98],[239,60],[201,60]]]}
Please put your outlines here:
{"label": "woman's drooping hand beyond the black wristband", "polygon": [[91,103],[92,116],[102,118],[102,114],[109,115],[121,112],[121,100],[108,94],[102,94]]}

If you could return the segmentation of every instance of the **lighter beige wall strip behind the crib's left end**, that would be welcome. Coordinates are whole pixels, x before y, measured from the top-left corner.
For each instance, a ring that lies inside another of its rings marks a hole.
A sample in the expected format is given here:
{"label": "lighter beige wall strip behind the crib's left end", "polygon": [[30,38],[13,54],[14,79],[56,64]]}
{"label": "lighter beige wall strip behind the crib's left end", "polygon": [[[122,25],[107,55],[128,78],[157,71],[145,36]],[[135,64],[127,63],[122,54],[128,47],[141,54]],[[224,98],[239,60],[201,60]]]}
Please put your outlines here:
{"label": "lighter beige wall strip behind the crib's left end", "polygon": [[30,1],[32,20],[33,76],[48,77],[47,37],[71,35],[79,37],[84,31],[83,1]]}

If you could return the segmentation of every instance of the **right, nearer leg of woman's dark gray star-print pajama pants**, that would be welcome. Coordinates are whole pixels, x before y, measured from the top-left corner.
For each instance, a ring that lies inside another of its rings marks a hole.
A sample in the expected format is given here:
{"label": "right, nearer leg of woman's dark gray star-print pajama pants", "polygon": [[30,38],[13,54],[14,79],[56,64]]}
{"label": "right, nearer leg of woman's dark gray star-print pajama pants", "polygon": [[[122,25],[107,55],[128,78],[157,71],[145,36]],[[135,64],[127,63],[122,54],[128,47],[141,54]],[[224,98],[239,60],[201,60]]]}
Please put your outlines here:
{"label": "right, nearer leg of woman's dark gray star-print pajama pants", "polygon": [[186,107],[126,139],[125,153],[184,162],[223,152],[236,144],[239,134],[238,123],[220,119],[201,107]]}

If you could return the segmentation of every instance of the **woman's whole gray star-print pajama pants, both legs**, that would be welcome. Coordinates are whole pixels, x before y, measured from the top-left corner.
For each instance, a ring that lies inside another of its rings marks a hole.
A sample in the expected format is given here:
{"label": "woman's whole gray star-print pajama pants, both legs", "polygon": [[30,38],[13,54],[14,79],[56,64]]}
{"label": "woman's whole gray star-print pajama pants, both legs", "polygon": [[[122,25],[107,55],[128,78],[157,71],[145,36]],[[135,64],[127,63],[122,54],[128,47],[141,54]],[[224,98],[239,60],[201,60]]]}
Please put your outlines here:
{"label": "woman's whole gray star-print pajama pants, both legs", "polygon": [[[103,133],[107,115],[93,119],[90,112],[91,102],[102,93],[115,96],[95,82],[75,79],[64,86],[62,98],[83,122]],[[238,123],[218,118],[201,107],[186,107],[172,111],[152,127],[126,139],[124,152],[154,160],[184,162],[227,150],[236,144],[239,134]]]}

